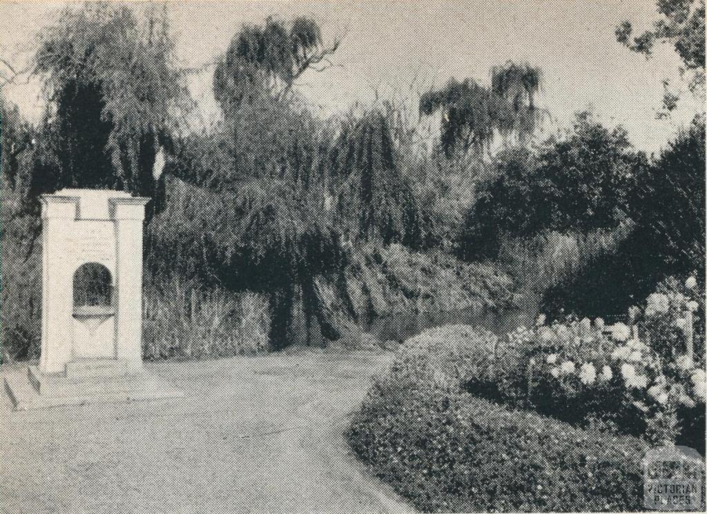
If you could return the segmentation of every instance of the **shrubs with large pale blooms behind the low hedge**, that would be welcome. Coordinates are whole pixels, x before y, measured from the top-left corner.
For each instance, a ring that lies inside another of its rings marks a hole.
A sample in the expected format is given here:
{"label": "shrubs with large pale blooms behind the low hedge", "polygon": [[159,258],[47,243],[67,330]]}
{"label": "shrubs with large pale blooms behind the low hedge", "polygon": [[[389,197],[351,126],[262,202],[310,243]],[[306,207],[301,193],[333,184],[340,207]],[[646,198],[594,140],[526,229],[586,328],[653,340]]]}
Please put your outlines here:
{"label": "shrubs with large pale blooms behind the low hedge", "polygon": [[[512,391],[501,391],[496,399],[515,399],[519,407],[572,424],[598,425],[653,443],[679,441],[703,451],[704,363],[684,354],[690,328],[695,346],[704,345],[695,290],[694,277],[682,291],[675,280],[666,282],[642,309],[631,309],[637,322],[631,327],[606,326],[600,318],[545,325],[540,318],[534,328],[519,328],[508,335],[508,345],[515,347],[522,373],[515,381],[501,378]],[[469,390],[483,394],[488,388],[472,381]]]}

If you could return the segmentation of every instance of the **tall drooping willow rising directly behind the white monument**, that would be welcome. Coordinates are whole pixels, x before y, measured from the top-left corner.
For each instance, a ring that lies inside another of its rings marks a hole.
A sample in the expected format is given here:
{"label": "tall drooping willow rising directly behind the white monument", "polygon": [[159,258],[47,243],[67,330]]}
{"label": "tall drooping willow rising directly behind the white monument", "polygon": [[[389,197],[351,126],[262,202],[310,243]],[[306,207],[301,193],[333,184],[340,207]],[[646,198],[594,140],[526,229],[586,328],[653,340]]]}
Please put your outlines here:
{"label": "tall drooping willow rising directly behind the white monument", "polygon": [[165,8],[67,8],[40,32],[34,73],[48,100],[37,189],[152,196],[156,155],[189,107]]}

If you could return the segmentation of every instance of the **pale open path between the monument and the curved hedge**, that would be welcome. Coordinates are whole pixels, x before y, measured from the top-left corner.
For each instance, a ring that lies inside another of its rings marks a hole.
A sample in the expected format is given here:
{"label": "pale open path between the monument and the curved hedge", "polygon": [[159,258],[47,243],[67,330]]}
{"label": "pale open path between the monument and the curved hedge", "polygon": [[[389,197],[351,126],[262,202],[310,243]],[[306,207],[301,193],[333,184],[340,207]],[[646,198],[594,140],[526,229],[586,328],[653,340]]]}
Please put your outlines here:
{"label": "pale open path between the monument and the curved hedge", "polygon": [[[148,364],[178,400],[0,413],[4,513],[405,512],[342,436],[390,354]],[[4,369],[5,372],[19,370]],[[3,392],[4,393],[4,392]]]}

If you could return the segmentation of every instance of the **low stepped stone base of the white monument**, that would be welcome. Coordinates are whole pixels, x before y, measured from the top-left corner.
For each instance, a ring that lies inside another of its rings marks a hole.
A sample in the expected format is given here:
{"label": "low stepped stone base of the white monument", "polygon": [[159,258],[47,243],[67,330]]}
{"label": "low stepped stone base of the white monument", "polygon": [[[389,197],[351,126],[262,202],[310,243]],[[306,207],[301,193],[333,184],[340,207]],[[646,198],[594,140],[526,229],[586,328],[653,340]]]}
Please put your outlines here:
{"label": "low stepped stone base of the white monument", "polygon": [[165,381],[111,359],[68,362],[64,373],[45,374],[29,366],[26,374],[10,373],[4,381],[14,410],[184,396]]}

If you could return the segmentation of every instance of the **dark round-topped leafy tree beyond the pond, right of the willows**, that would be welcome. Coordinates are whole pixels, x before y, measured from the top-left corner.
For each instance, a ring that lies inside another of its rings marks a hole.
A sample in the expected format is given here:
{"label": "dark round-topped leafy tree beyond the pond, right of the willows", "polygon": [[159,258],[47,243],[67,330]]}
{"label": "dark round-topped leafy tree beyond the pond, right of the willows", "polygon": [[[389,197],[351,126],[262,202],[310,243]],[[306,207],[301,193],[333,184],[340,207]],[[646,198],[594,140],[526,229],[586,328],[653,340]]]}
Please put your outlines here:
{"label": "dark round-topped leafy tree beyond the pond, right of the willows", "polygon": [[511,148],[494,165],[496,178],[481,189],[460,232],[462,258],[496,257],[504,236],[618,227],[645,157],[631,149],[623,128],[609,131],[583,112],[568,138],[539,150]]}

